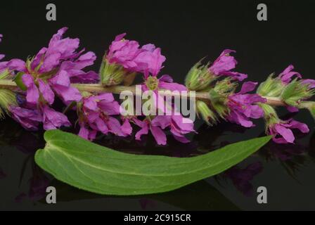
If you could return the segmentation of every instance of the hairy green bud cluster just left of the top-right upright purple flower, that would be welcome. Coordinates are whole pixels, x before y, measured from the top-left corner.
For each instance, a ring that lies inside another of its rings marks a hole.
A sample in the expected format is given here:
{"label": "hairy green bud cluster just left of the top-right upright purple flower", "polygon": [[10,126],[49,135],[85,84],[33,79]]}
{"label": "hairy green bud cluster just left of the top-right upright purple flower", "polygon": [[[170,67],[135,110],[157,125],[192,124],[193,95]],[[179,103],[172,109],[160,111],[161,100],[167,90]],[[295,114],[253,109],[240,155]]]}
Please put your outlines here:
{"label": "hairy green bud cluster just left of the top-right upright purple flower", "polygon": [[191,70],[189,70],[185,85],[191,91],[201,91],[206,89],[216,77],[212,75],[207,65],[201,65],[200,62],[196,63]]}

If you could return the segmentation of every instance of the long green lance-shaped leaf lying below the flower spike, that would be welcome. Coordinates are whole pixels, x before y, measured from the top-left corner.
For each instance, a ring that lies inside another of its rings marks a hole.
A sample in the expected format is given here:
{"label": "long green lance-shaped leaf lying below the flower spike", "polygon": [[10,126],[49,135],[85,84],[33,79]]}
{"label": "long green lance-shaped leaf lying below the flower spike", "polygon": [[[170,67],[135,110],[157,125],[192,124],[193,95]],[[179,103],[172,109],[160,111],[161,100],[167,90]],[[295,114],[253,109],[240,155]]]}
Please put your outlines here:
{"label": "long green lance-shaped leaf lying below the flower spike", "polygon": [[271,137],[225,146],[193,158],[132,155],[98,146],[74,134],[46,131],[35,161],[56,179],[93,193],[162,193],[219,174],[264,146]]}

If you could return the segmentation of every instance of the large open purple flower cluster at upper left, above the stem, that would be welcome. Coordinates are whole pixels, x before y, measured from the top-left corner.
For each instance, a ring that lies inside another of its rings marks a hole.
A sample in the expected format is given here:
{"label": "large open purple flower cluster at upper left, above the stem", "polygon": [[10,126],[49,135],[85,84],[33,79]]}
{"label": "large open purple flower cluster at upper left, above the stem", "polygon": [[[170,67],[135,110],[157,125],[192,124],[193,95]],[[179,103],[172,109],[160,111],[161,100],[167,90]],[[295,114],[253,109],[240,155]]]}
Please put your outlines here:
{"label": "large open purple flower cluster at upper left, above the stem", "polygon": [[92,65],[96,56],[92,52],[77,52],[79,39],[63,38],[68,30],[64,27],[54,34],[47,48],[27,62],[13,59],[8,62],[8,68],[23,72],[23,83],[27,86],[27,102],[39,103],[43,96],[44,103],[51,105],[54,93],[65,102],[79,101],[82,97],[70,82],[94,82],[98,79],[95,72],[84,72],[82,69]]}

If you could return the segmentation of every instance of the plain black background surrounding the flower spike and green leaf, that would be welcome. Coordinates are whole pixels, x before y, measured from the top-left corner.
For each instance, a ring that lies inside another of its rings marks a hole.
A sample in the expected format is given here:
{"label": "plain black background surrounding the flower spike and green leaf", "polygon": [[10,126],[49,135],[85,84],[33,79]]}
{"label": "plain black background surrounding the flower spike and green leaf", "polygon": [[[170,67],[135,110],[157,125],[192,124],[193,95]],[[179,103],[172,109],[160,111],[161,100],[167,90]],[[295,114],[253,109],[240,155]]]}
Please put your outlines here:
{"label": "plain black background surrounding the flower spike and green leaf", "polygon": [[[46,20],[48,3],[57,6],[56,22]],[[267,5],[268,21],[257,20],[259,3]],[[237,51],[236,71],[247,73],[252,81],[262,82],[271,72],[282,72],[289,64],[295,65],[304,78],[314,79],[314,15],[314,1],[306,0],[2,1],[0,33],[4,39],[0,53],[5,53],[7,59],[33,56],[48,44],[52,34],[67,26],[68,36],[79,37],[81,46],[98,56],[94,70],[98,70],[101,56],[115,35],[127,32],[127,39],[159,46],[167,57],[162,73],[172,75],[177,82],[184,82],[186,72],[200,58],[208,56],[208,60],[214,60],[224,49]],[[249,197],[231,180],[218,183],[214,178],[171,193],[113,198],[77,191],[49,177],[49,182],[59,187],[58,203],[53,206],[46,205],[41,198],[30,198],[30,186],[32,189],[34,183],[30,179],[34,174],[37,178],[43,176],[32,162],[32,153],[41,144],[40,134],[22,131],[10,120],[1,122],[0,209],[315,210],[314,121],[304,111],[296,118],[309,125],[309,135],[298,139],[295,146],[266,146],[240,165],[262,163],[262,172],[251,180],[254,193]],[[262,122],[247,131],[234,127],[221,124],[209,129],[200,124],[200,134],[193,138],[193,144],[205,151],[212,150],[221,143],[249,139],[264,131]],[[108,138],[104,145],[139,153],[195,154],[192,146],[178,143],[161,149],[153,143],[139,147],[136,143]],[[256,202],[258,186],[269,190],[266,205]]]}

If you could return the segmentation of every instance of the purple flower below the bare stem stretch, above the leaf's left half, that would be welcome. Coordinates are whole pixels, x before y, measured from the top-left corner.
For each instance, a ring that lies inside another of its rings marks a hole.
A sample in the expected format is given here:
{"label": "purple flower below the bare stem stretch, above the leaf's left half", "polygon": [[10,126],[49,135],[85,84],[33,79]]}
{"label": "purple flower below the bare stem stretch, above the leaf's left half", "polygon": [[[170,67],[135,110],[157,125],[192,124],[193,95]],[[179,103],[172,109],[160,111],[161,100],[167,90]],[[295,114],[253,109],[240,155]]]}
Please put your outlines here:
{"label": "purple flower below the bare stem stretch, above the leaf's left half", "polygon": [[93,140],[97,131],[103,134],[113,133],[117,136],[127,136],[122,131],[122,125],[113,115],[120,115],[120,105],[113,94],[100,94],[83,99],[79,110],[79,136]]}

